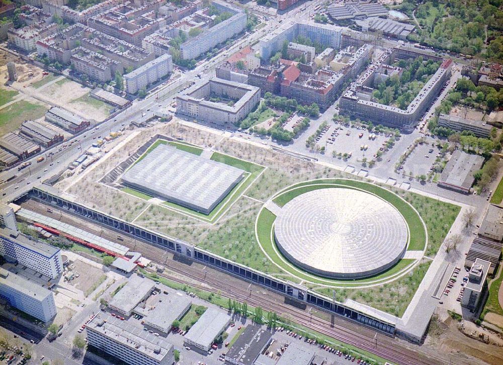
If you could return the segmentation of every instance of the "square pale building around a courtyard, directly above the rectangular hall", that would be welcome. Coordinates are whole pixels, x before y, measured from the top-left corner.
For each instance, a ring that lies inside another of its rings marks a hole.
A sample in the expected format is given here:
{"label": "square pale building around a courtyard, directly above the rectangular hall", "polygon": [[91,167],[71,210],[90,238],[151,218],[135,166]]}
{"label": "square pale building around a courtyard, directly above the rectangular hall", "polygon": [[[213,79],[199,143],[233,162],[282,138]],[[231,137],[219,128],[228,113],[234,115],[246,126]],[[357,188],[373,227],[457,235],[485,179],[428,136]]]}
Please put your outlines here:
{"label": "square pale building around a courtyard, directly above the rectangular hall", "polygon": [[[212,102],[210,97],[235,102]],[[260,88],[234,81],[212,78],[186,94],[177,96],[177,113],[218,125],[235,124],[246,118],[260,102]]]}

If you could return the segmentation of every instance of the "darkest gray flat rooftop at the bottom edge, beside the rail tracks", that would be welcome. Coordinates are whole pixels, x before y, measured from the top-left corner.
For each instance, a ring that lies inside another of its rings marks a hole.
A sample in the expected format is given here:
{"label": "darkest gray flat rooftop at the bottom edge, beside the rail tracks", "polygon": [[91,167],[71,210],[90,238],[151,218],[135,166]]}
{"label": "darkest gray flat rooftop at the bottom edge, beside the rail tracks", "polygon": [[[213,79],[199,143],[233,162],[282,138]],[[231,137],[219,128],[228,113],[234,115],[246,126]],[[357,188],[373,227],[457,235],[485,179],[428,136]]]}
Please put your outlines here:
{"label": "darkest gray flat rooftop at the bottom edge, beside the rail tracks", "polygon": [[226,358],[231,358],[239,364],[252,365],[262,350],[271,341],[272,335],[261,326],[250,324],[239,335],[229,349]]}

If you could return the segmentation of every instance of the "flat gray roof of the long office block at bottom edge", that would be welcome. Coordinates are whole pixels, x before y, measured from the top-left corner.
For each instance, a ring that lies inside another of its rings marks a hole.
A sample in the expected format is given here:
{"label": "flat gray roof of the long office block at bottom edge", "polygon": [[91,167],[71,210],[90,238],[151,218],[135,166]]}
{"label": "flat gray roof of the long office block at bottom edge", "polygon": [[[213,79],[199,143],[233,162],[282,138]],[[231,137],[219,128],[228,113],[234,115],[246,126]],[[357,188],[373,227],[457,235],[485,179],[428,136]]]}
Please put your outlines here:
{"label": "flat gray roof of the long office block at bottom edge", "polygon": [[121,321],[106,313],[99,313],[86,326],[86,330],[93,330],[107,336],[123,346],[134,348],[135,351],[160,362],[173,349],[173,344],[164,337],[154,336],[143,331],[141,327],[133,326],[128,321]]}

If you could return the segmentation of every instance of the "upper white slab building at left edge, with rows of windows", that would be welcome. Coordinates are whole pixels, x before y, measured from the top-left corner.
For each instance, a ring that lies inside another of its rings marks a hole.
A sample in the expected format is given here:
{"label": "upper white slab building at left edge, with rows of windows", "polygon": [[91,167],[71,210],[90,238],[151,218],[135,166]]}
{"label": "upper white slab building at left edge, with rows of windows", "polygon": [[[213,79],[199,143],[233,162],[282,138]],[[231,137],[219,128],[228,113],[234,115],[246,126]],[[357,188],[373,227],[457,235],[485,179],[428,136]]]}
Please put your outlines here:
{"label": "upper white slab building at left edge, with rows of windows", "polygon": [[63,272],[59,248],[32,239],[17,230],[0,228],[0,255],[51,279],[56,279]]}

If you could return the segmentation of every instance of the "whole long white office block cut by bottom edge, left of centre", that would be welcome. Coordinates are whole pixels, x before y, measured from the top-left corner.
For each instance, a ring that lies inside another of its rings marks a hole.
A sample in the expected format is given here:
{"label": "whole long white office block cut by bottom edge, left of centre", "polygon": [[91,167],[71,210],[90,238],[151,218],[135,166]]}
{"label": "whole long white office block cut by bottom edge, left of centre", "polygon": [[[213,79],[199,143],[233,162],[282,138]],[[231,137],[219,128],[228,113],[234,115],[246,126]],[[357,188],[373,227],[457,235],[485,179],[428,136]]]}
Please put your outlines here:
{"label": "whole long white office block cut by bottom edge, left of centre", "polygon": [[128,321],[99,313],[86,326],[88,343],[131,365],[172,365],[174,346]]}

